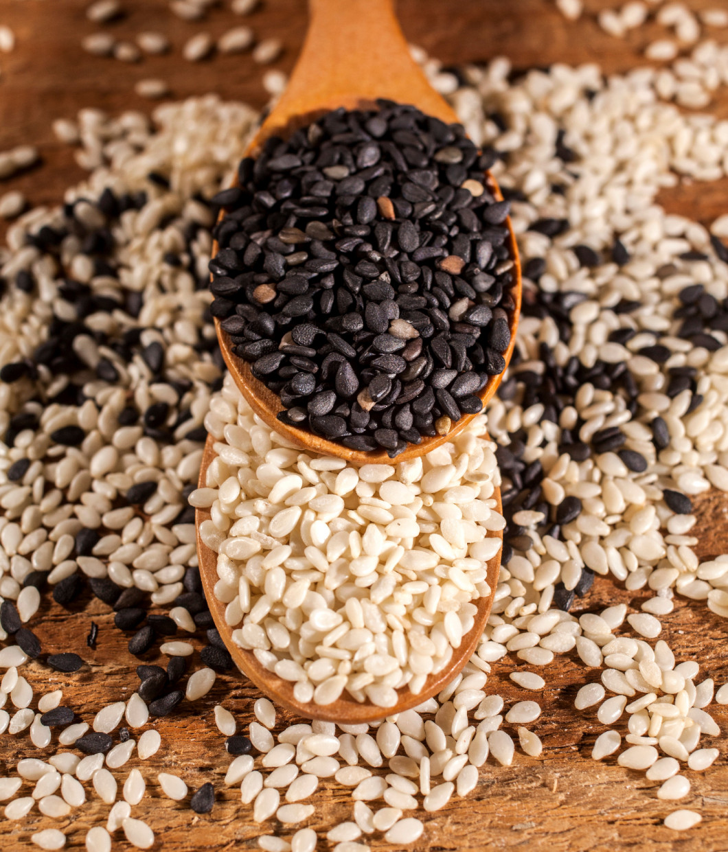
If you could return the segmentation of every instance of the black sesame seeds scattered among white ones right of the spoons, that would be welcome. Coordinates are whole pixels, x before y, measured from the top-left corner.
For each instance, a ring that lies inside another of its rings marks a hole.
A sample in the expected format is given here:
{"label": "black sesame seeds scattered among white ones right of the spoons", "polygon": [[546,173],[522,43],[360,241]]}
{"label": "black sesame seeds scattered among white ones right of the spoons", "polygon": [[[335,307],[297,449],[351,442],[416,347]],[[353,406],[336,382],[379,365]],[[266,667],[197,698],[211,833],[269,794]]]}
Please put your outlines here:
{"label": "black sesame seeds scattered among white ones right of the spoons", "polygon": [[[612,258],[619,265],[627,263],[629,255],[619,240],[615,241],[612,250]],[[695,260],[695,257],[685,258]],[[722,258],[721,258],[722,259]],[[591,262],[591,258],[589,259]],[[728,256],[726,256],[728,260]],[[598,260],[601,262],[601,260]],[[583,261],[582,261],[583,263]],[[592,264],[594,265],[594,264]],[[523,265],[523,274],[526,279],[538,282],[540,275],[545,271],[546,263],[542,258],[532,258]],[[666,274],[673,273],[674,269],[665,269]],[[525,285],[523,288],[523,316],[532,316],[540,320],[546,317],[558,326],[558,336],[564,343],[569,343],[572,334],[572,324],[569,320],[570,311],[580,302],[585,301],[587,296],[575,291],[549,293],[540,290],[538,286]],[[690,340],[696,346],[703,346],[709,350],[719,348],[719,341],[710,336],[711,330],[728,330],[728,299],[718,302],[713,296],[709,296],[702,285],[690,285],[679,293],[681,307],[673,314],[676,319],[684,320],[679,329],[678,336]],[[630,314],[641,307],[641,302],[620,302],[613,308],[615,314]],[[610,342],[627,343],[637,332],[630,328],[621,328],[610,333]],[[654,343],[638,349],[638,354],[643,355],[658,364],[664,363],[670,355],[669,349],[660,343]],[[533,371],[520,367],[521,356],[516,349],[511,360],[509,377],[500,384],[498,396],[501,400],[517,399],[523,409],[529,408],[536,403],[544,405],[542,419],[552,423],[559,422],[559,416],[566,406],[573,406],[577,391],[586,383],[591,383],[594,388],[609,390],[611,393],[621,396],[625,402],[627,411],[633,417],[638,415],[638,385],[624,361],[617,363],[606,363],[597,360],[591,367],[581,364],[581,361],[572,357],[565,366],[560,366],[554,359],[551,349],[546,343],[540,344],[539,360],[544,364],[544,371]],[[669,371],[670,381],[665,393],[671,399],[684,390],[690,390],[690,404],[687,411],[692,412],[702,402],[702,395],[696,390],[696,368],[690,366],[673,367]],[[559,453],[568,453],[569,457],[576,462],[582,462],[592,455],[603,452],[615,452],[628,470],[634,473],[644,473],[648,464],[644,456],[634,450],[626,448],[627,435],[615,426],[609,429],[601,429],[592,435],[588,443],[579,439],[581,427],[584,420],[579,417],[574,429],[562,429],[561,440],[558,445]],[[653,417],[650,425],[652,442],[656,452],[664,450],[670,444],[670,433],[667,423],[662,417]],[[527,446],[528,430],[517,429],[509,434],[510,443],[501,445],[496,452],[498,466],[504,479],[501,489],[503,503],[503,515],[506,518],[506,529],[503,539],[502,561],[507,564],[513,556],[514,550],[527,551],[534,546],[534,540],[529,529],[519,526],[513,521],[513,515],[523,509],[531,509],[541,512],[544,520],[536,525],[536,532],[543,536],[552,538],[563,538],[561,529],[565,524],[575,521],[581,515],[581,500],[575,496],[563,499],[558,506],[550,506],[543,497],[541,482],[544,479],[544,470],[540,461],[536,460],[526,463],[523,453]],[[546,442],[546,440],[545,440]],[[690,515],[692,513],[692,501],[681,492],[665,488],[662,492],[667,507],[678,515]],[[575,602],[575,597],[582,597],[591,589],[594,582],[594,572],[591,568],[584,566],[581,569],[581,578],[573,589],[567,589],[563,582],[556,585],[553,596],[553,605],[559,609],[569,610]]]}

